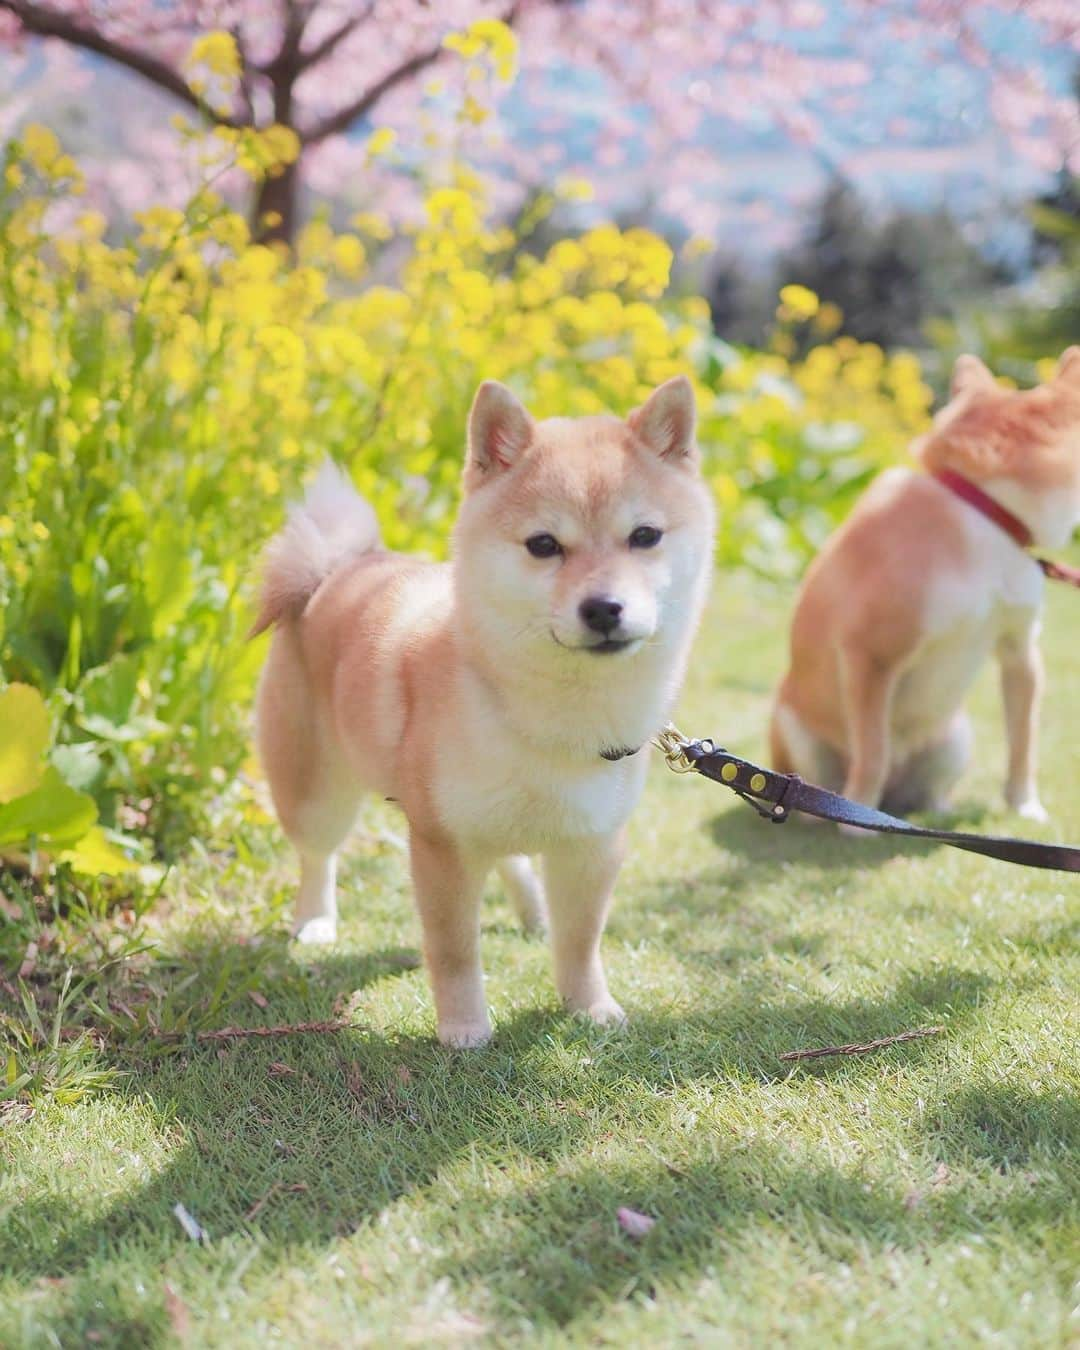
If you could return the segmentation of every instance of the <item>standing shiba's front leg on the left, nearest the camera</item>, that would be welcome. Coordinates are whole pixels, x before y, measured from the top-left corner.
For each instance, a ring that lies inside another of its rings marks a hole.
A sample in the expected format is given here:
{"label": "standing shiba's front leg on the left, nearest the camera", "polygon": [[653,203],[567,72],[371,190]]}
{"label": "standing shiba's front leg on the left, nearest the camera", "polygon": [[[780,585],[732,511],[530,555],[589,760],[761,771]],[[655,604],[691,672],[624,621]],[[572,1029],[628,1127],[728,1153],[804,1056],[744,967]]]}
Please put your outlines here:
{"label": "standing shiba's front leg on the left, nearest the camera", "polygon": [[483,1045],[491,1037],[479,918],[487,868],[464,857],[451,841],[416,832],[409,838],[409,855],[439,1040],[456,1049]]}

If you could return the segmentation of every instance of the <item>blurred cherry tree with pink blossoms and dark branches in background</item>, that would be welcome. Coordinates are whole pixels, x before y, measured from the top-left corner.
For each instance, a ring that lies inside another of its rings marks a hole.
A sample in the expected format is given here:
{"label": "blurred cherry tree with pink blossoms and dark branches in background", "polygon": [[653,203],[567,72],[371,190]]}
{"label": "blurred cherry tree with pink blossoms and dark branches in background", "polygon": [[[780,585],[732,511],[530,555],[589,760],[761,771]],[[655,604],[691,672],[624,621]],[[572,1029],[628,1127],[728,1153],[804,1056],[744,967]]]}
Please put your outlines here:
{"label": "blurred cherry tree with pink blossoms and dark branches in background", "polygon": [[[478,19],[520,35],[535,136],[504,146],[518,182],[536,180],[566,138],[552,72],[595,81],[603,116],[579,167],[632,167],[668,211],[702,213],[699,184],[717,128],[763,124],[837,167],[829,127],[856,119],[892,54],[917,46],[929,78],[960,58],[986,73],[998,127],[1042,169],[1080,169],[1075,101],[1045,69],[1010,54],[1008,24],[1048,51],[1080,53],[1075,0],[0,0],[0,45],[51,39],[134,72],[211,123],[290,127],[300,157],[267,178],[254,216],[292,238],[301,176],[355,169],[355,128],[408,127],[444,39]],[[225,31],[239,53],[228,97],[212,99],[186,57]],[[906,119],[890,123],[902,142]],[[703,217],[702,217],[703,219]]]}

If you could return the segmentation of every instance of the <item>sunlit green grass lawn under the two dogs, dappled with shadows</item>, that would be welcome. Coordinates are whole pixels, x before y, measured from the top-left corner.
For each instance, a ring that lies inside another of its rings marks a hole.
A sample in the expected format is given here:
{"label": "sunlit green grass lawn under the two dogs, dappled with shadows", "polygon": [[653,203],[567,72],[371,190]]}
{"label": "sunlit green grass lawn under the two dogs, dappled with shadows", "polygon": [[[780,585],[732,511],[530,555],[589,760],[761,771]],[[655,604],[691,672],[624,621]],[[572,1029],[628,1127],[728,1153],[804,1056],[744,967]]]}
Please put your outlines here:
{"label": "sunlit green grass lawn under the two dogs, dappled with shadows", "polygon": [[[1053,590],[1053,821],[1027,829],[1080,842],[1080,597]],[[764,755],[787,603],[718,582],[684,730]],[[1011,832],[992,672],[973,706],[952,818]],[[398,830],[364,817],[332,950],[286,942],[292,861],[263,825],[144,917],[42,930],[43,1025],[16,1064],[43,1087],[0,1114],[0,1345],[1080,1345],[1076,878],[778,829],[656,757],[606,937],[630,1025],[564,1015],[493,888],[495,1041],[452,1054]],[[88,979],[50,1046],[66,964]],[[335,1007],[354,1029],[147,1033]],[[945,1033],[778,1058],[929,1023]],[[621,1206],[656,1219],[644,1238]]]}

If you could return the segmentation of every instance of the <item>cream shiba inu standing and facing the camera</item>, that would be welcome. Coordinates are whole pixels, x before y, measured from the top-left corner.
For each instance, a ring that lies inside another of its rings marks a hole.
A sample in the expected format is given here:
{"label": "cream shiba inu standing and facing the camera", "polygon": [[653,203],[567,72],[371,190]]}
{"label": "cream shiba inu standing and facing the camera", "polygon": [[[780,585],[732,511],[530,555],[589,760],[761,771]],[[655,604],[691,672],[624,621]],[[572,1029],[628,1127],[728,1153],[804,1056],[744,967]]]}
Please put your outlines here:
{"label": "cream shiba inu standing and facing the camera", "polygon": [[335,860],[358,802],[396,799],[447,1045],[490,1035],[491,868],[526,927],[549,925],[570,1008],[622,1018],[599,940],[645,776],[637,752],[682,682],[711,563],[694,425],[682,377],[626,421],[537,423],[487,382],[452,563],[383,551],[331,467],[269,548],[254,630],[277,630],[258,742],[300,853],[293,932],[335,937]]}

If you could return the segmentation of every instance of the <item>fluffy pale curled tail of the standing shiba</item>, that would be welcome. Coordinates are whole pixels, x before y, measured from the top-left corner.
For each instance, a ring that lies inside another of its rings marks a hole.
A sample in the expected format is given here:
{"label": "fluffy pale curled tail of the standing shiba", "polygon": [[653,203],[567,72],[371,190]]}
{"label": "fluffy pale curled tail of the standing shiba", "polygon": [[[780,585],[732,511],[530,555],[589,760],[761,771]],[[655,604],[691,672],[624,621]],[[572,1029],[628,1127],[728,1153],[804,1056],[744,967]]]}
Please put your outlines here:
{"label": "fluffy pale curled tail of the standing shiba", "polygon": [[308,495],[292,508],[285,528],[266,548],[259,617],[248,637],[256,637],[271,624],[300,618],[320,582],[339,563],[381,547],[374,510],[328,459]]}

